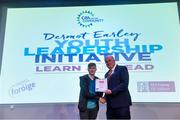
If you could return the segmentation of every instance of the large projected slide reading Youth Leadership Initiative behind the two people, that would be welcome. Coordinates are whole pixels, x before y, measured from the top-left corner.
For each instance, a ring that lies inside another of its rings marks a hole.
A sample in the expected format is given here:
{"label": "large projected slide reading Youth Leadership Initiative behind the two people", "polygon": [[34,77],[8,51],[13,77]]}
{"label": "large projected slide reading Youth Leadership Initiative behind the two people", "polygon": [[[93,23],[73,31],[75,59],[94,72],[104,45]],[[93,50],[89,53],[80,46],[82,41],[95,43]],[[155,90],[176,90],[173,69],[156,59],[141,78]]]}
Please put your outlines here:
{"label": "large projected slide reading Youth Leadership Initiative behind the two people", "polygon": [[129,70],[133,102],[180,102],[176,2],[7,8],[0,104],[78,102],[79,77],[104,58]]}

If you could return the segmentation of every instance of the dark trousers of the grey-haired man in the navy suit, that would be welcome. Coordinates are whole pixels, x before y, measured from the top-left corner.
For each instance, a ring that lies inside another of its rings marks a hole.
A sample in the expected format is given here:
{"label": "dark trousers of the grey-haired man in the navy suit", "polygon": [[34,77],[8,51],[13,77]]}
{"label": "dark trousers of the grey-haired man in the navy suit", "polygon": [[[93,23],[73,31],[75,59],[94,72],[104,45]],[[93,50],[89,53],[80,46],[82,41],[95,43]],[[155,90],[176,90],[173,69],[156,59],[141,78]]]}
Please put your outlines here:
{"label": "dark trousers of the grey-haired man in the navy suit", "polygon": [[107,119],[131,119],[130,108],[129,107],[120,107],[120,108],[111,108],[107,107],[106,112]]}

